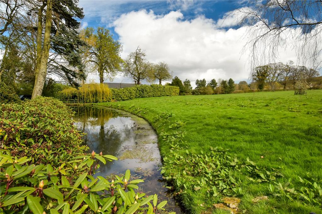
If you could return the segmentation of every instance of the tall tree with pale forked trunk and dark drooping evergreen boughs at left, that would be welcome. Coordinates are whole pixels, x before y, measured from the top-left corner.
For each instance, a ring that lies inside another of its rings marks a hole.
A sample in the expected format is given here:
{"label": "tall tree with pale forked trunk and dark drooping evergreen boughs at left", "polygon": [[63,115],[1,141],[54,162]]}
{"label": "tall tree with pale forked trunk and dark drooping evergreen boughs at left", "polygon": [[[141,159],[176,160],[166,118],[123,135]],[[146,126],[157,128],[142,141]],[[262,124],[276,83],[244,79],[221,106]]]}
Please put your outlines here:
{"label": "tall tree with pale forked trunk and dark drooping evergreen boughs at left", "polygon": [[[56,57],[64,59],[64,63],[54,64],[53,67],[59,67],[67,75],[68,81],[76,84],[72,80],[76,74],[71,67],[77,67],[77,71],[82,73],[79,47],[84,43],[80,40],[77,31],[80,22],[75,18],[82,19],[84,13],[78,7],[76,0],[31,1],[28,7],[30,12],[27,14],[33,11],[37,13],[35,83],[32,94],[32,99],[34,99],[43,91],[50,49]],[[85,78],[82,75],[80,77]]]}

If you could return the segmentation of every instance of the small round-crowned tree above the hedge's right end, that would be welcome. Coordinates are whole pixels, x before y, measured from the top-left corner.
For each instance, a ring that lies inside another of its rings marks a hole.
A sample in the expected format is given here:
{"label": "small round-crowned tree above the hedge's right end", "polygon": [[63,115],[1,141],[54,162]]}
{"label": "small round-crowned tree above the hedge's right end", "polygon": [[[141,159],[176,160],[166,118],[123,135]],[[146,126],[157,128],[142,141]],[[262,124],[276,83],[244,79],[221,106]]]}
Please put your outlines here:
{"label": "small round-crowned tree above the hedge's right end", "polygon": [[159,85],[162,85],[162,81],[171,80],[172,75],[170,73],[170,67],[165,62],[159,62],[153,65],[152,69],[147,74],[147,80],[151,83],[159,80]]}

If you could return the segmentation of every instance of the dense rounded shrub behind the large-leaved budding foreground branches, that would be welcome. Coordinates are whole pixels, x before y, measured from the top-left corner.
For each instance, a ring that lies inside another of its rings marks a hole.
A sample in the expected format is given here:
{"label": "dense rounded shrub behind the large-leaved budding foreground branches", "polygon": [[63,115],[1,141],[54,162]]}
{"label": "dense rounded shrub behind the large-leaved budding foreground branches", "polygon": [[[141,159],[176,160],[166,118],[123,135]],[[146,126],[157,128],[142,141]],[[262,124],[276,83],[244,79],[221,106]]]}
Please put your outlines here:
{"label": "dense rounded shrub behind the large-leaved budding foreground branches", "polygon": [[2,105],[0,113],[1,149],[13,157],[27,156],[29,164],[59,166],[58,160],[87,150],[73,125],[73,112],[61,101],[37,97],[21,105]]}

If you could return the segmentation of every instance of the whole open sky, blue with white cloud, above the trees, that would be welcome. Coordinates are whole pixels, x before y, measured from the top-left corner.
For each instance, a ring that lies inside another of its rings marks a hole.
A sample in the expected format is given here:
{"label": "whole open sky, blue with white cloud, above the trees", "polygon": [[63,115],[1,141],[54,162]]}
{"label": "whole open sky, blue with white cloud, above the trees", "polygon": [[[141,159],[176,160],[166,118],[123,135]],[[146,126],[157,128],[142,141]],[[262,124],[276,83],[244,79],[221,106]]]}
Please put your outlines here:
{"label": "whole open sky, blue with white cloud, above the trees", "polygon": [[[166,62],[173,76],[189,79],[218,80],[232,78],[235,83],[248,81],[249,52],[247,27],[238,27],[237,19],[226,18],[230,11],[251,6],[249,1],[89,1],[80,0],[85,17],[82,28],[102,26],[123,45],[121,57],[140,46],[150,62]],[[296,62],[291,49],[279,52],[283,63]],[[99,82],[91,74],[88,81]],[[122,74],[111,81],[133,83]],[[147,83],[143,81],[143,84]]]}

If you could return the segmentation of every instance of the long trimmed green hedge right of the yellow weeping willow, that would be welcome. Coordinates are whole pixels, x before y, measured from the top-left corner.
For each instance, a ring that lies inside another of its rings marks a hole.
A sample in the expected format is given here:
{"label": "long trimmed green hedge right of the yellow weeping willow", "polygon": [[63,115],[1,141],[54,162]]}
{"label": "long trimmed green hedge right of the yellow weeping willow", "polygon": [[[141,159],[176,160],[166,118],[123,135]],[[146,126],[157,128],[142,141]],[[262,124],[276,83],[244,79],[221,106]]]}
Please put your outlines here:
{"label": "long trimmed green hedge right of the yellow weeping willow", "polygon": [[110,90],[112,92],[112,100],[115,101],[179,95],[179,87],[169,85],[136,85],[129,88],[111,88]]}

